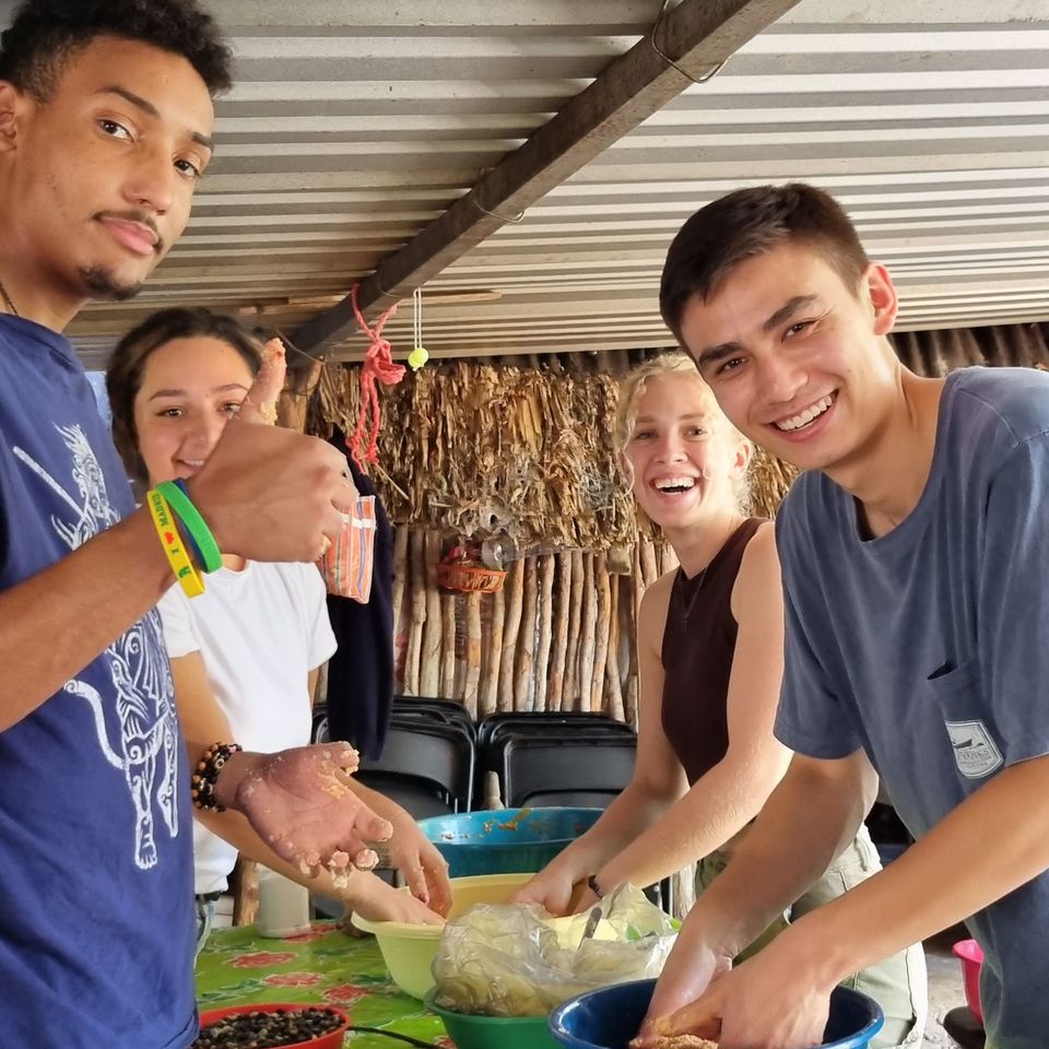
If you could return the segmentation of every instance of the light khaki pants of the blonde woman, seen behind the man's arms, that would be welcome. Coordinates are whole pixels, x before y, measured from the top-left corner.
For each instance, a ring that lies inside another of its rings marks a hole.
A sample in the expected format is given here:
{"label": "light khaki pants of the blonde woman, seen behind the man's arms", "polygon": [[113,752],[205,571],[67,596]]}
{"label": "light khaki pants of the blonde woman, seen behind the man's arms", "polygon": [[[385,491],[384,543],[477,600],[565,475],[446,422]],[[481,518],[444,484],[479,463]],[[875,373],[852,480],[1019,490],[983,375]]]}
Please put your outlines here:
{"label": "light khaki pants of the blonde woman, seen behind the man's arms", "polygon": [[[728,865],[731,857],[718,851],[699,861],[696,871],[698,896]],[[808,915],[823,904],[842,896],[882,869],[877,850],[867,827],[861,827],[853,842],[839,856],[804,895],[794,900],[780,921],[774,922],[743,952],[741,958],[756,953],[783,931],[791,920]],[[885,1026],[871,1045],[874,1049],[898,1049],[921,1045],[929,1011],[929,988],[926,982],[926,955],[920,943],[912,944],[870,968],[857,973],[842,986],[869,994],[885,1012]]]}

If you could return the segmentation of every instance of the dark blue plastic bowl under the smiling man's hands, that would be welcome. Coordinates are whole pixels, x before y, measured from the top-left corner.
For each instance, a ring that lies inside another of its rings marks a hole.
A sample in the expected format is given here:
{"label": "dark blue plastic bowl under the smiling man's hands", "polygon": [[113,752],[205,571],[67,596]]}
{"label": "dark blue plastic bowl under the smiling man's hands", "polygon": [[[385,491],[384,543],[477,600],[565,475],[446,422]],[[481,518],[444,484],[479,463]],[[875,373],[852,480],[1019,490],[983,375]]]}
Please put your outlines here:
{"label": "dark blue plastic bowl under the smiling man's hands", "polygon": [[[655,980],[636,980],[569,998],[551,1014],[550,1032],[570,1049],[626,1049],[648,1012],[655,986]],[[884,1023],[873,998],[836,987],[823,1049],[867,1049]]]}

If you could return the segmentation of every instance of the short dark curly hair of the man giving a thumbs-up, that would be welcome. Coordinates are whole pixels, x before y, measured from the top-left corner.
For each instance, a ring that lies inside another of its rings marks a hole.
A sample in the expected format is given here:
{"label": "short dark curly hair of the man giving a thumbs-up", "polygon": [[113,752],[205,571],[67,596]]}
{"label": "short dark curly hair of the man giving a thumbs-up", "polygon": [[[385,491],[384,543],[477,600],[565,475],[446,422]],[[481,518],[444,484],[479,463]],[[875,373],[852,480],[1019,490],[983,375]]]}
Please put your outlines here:
{"label": "short dark curly hair of the man giving a thumbs-up", "polygon": [[212,96],[233,83],[232,52],[196,0],[23,0],[0,34],[0,80],[47,102],[73,55],[101,36],[181,55]]}

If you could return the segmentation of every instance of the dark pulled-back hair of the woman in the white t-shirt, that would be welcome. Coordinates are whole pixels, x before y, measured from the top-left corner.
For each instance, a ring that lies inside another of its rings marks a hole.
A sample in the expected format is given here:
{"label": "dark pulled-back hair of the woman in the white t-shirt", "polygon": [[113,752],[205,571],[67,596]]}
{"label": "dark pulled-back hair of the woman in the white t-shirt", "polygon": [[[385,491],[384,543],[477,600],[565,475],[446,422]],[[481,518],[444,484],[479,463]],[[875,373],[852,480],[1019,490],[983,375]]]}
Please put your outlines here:
{"label": "dark pulled-back hair of the woman in the white t-shirt", "polygon": [[176,306],[146,317],[116,345],[106,367],[106,393],[113,412],[113,439],[128,473],[146,481],[145,462],[139,453],[139,434],[134,426],[134,399],[142,388],[145,362],[161,346],[176,339],[205,335],[233,346],[244,357],[252,375],[262,366],[262,351],[240,322],[226,314],[197,307]]}

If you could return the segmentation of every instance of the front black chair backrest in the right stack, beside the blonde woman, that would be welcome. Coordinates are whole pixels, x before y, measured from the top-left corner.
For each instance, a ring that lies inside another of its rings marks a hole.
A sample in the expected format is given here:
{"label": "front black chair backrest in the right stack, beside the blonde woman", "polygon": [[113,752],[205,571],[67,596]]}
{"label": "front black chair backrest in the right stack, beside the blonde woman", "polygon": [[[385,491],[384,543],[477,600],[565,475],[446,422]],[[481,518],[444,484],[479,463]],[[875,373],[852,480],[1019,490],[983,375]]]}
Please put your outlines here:
{"label": "front black chair backrest in the right stack, beside the blonde woman", "polygon": [[576,731],[522,735],[503,747],[503,799],[522,805],[606,806],[634,777],[637,741]]}

